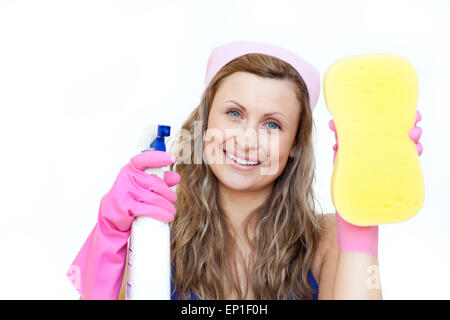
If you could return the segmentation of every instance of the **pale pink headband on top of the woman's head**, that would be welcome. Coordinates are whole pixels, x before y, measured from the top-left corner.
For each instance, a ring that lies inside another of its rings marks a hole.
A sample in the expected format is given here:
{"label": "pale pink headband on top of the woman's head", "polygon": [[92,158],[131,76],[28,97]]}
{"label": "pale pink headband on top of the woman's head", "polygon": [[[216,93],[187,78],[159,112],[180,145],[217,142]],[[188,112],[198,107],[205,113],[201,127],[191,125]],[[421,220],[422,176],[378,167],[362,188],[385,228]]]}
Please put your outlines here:
{"label": "pale pink headband on top of the woman's head", "polygon": [[249,53],[262,53],[274,56],[289,63],[305,81],[309,94],[311,112],[319,100],[320,74],[310,63],[282,47],[249,41],[236,41],[215,47],[209,55],[205,74],[205,89],[216,73],[231,60]]}

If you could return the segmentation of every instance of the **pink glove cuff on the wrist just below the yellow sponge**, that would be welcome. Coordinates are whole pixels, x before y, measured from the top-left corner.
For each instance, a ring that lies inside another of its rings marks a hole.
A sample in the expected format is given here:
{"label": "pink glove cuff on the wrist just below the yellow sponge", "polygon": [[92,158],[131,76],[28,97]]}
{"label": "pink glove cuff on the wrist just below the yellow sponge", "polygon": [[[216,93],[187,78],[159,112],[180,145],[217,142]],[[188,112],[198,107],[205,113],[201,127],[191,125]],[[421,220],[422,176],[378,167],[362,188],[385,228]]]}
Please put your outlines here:
{"label": "pink glove cuff on the wrist just below the yellow sponge", "polygon": [[336,211],[337,244],[342,251],[378,256],[378,226],[355,226]]}

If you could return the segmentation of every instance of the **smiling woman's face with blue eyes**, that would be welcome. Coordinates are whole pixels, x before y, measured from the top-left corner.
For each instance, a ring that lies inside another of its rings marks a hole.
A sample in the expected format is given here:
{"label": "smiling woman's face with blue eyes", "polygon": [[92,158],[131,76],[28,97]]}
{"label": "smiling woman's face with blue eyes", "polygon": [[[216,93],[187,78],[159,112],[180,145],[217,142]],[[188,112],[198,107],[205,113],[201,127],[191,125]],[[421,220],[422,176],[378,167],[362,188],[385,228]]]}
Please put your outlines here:
{"label": "smiling woman's face with blue eyes", "polygon": [[281,174],[288,157],[294,156],[300,120],[295,90],[293,81],[248,72],[235,72],[222,80],[204,142],[204,159],[221,184],[255,191]]}

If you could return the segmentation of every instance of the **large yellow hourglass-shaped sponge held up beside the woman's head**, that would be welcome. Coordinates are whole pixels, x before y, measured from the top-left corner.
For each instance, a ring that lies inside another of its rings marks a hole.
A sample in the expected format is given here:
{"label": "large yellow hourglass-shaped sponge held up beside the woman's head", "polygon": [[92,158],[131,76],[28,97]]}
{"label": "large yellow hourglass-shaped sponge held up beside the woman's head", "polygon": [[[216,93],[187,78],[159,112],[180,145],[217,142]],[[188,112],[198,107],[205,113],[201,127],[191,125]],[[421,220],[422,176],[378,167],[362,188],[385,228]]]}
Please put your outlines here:
{"label": "large yellow hourglass-shaped sponge held up beside the woman's head", "polygon": [[323,88],[338,135],[331,180],[337,212],[359,226],[413,217],[424,201],[408,135],[416,118],[414,67],[393,54],[346,57],[328,68]]}

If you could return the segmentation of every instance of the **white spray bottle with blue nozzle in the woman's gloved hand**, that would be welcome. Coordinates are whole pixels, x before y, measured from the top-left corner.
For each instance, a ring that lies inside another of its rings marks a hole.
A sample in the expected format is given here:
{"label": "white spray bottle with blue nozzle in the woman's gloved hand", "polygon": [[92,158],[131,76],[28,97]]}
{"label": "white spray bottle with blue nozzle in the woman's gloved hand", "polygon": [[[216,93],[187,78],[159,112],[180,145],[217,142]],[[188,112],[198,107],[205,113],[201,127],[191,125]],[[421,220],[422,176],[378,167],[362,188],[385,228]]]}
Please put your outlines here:
{"label": "white spray bottle with blue nozzle in the woman's gloved hand", "polygon": [[[164,137],[168,136],[170,126],[158,125],[156,138],[143,152],[166,151]],[[162,180],[164,171],[169,171],[169,167],[145,170]],[[170,300],[170,231],[167,223],[149,217],[137,217],[133,221],[127,269],[128,300]]]}

